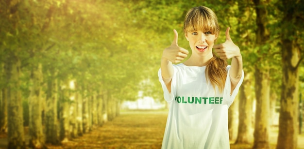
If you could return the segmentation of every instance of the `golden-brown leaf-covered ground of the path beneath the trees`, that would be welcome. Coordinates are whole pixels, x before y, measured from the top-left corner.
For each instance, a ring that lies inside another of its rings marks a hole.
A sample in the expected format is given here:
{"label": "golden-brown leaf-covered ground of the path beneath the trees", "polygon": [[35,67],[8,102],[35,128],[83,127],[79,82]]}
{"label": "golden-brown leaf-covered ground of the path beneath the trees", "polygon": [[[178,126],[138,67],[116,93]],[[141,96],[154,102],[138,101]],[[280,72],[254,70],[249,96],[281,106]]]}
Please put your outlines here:
{"label": "golden-brown leaf-covered ground of the path beneath the trees", "polygon": [[[63,143],[62,146],[47,146],[49,149],[160,149],[167,113],[167,111],[124,111],[113,121]],[[271,127],[271,149],[275,149],[277,132],[277,127]],[[28,138],[26,135],[26,140]],[[6,147],[5,134],[1,134],[0,149],[6,149]],[[252,144],[234,145],[232,143],[231,149],[252,149]],[[304,134],[298,137],[298,149],[304,149]]]}

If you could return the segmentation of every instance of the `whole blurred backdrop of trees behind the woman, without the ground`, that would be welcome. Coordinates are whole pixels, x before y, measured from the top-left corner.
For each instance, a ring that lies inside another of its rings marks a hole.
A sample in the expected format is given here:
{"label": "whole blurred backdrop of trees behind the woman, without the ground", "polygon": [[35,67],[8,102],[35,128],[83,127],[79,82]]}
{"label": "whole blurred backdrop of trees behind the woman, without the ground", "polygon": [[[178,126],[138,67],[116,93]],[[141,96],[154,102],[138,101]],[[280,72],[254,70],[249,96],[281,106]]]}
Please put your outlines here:
{"label": "whole blurred backdrop of trees behind the woman, without the ground", "polygon": [[45,148],[82,136],[126,111],[167,111],[157,76],[162,51],[171,44],[173,29],[179,46],[190,49],[184,17],[190,8],[204,5],[218,16],[217,43],[225,41],[230,27],[243,56],[245,79],[229,110],[233,143],[268,149],[274,129],[274,147],[300,148],[303,4],[0,0],[1,147]]}

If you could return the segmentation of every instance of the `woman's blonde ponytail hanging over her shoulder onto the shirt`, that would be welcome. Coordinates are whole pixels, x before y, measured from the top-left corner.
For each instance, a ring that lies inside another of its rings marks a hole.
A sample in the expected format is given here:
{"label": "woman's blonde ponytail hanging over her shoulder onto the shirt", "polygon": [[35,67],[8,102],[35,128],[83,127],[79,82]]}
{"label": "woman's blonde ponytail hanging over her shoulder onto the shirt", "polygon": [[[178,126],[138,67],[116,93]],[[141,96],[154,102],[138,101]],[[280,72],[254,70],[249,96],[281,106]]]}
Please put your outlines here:
{"label": "woman's blonde ponytail hanging over her shoulder onto the shirt", "polygon": [[227,77],[227,65],[228,63],[226,60],[222,60],[215,56],[215,54],[213,54],[213,58],[206,66],[206,79],[210,80],[210,83],[212,84],[214,89],[217,86],[220,92],[224,90],[225,81]]}

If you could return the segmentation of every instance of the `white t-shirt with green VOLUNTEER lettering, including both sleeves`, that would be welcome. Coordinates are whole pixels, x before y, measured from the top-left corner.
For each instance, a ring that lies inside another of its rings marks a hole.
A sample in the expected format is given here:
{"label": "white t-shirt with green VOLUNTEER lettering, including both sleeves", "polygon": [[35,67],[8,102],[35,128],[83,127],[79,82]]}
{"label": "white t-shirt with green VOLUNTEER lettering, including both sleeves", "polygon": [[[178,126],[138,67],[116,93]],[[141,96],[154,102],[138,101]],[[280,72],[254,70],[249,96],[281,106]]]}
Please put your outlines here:
{"label": "white t-shirt with green VOLUNTEER lettering, including both sleeves", "polygon": [[230,95],[229,65],[222,93],[206,81],[206,66],[180,63],[173,68],[171,93],[162,79],[161,70],[158,71],[164,98],[170,105],[162,149],[230,149],[228,108],[243,82],[244,72]]}

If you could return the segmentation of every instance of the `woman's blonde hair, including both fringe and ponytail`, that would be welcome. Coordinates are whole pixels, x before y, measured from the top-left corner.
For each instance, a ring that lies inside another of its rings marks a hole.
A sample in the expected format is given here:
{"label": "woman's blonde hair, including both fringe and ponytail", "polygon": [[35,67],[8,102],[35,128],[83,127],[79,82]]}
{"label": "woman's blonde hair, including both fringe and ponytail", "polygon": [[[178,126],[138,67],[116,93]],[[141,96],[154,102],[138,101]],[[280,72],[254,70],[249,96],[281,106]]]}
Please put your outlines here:
{"label": "woman's blonde hair, including both fringe and ponytail", "polygon": [[[218,17],[208,7],[193,7],[186,14],[184,21],[185,34],[198,30],[210,31],[211,34],[215,34],[216,37],[220,34]],[[227,77],[227,65],[228,63],[226,60],[216,57],[213,53],[213,58],[209,60],[209,63],[206,66],[206,79],[208,80],[209,78],[213,88],[215,89],[217,86],[220,92],[224,90]]]}

